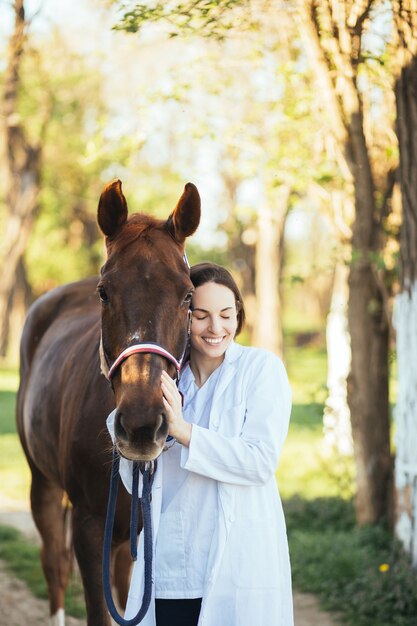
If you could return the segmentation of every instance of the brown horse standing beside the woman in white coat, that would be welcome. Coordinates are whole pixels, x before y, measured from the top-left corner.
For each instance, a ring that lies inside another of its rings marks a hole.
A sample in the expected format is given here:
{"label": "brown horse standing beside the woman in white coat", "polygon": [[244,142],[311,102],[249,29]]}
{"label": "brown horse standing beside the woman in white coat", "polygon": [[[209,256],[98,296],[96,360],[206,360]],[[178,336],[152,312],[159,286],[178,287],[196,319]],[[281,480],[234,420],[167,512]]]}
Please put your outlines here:
{"label": "brown horse standing beside the woman in white coat", "polygon": [[[120,181],[107,185],[98,207],[107,246],[98,285],[97,278],[90,278],[59,287],[29,311],[21,341],[17,422],[32,471],[32,514],[42,537],[42,566],[55,624],[64,623],[70,569],[64,493],[72,504],[88,626],[110,623],[101,575],[112,448],[106,417],[116,406],[121,454],[155,459],[168,434],[161,371],[174,375],[175,367],[163,356],[141,353],[123,360],[112,388],[106,373],[125,348],[141,342],[159,344],[181,357],[192,292],[184,242],[199,220],[200,198],[190,183],[166,221],[142,214],[128,218]],[[120,489],[115,560],[129,536],[129,501]],[[123,605],[129,568],[116,563],[115,569]]]}

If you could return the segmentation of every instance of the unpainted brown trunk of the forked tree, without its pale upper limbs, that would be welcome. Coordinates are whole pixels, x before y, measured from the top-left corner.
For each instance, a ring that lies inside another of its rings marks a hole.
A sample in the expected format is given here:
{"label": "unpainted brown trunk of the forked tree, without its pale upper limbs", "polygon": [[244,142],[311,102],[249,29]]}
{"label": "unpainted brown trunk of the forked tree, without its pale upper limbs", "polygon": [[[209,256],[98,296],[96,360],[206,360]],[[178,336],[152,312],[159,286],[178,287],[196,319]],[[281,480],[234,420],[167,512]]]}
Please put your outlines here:
{"label": "unpainted brown trunk of the forked tree, without its pale upper limbs", "polygon": [[389,419],[389,323],[372,266],[381,249],[375,186],[360,102],[349,125],[354,164],[355,220],[349,274],[348,320],[352,366],[348,378],[357,476],[356,515],[360,524],[392,516],[392,459]]}

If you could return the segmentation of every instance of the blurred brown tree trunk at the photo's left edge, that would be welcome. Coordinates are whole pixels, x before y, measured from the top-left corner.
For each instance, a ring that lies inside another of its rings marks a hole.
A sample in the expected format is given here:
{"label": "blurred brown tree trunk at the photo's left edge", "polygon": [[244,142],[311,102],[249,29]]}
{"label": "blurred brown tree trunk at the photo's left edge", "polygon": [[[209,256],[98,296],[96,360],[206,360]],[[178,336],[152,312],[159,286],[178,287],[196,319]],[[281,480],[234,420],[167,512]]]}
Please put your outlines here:
{"label": "blurred brown tree trunk at the photo's left edge", "polygon": [[22,262],[38,212],[41,147],[30,145],[19,119],[17,101],[20,66],[26,40],[23,0],[16,0],[15,26],[8,51],[5,72],[3,113],[6,138],[8,215],[2,250],[0,282],[0,355],[5,356],[9,343],[9,317],[16,294],[16,272]]}

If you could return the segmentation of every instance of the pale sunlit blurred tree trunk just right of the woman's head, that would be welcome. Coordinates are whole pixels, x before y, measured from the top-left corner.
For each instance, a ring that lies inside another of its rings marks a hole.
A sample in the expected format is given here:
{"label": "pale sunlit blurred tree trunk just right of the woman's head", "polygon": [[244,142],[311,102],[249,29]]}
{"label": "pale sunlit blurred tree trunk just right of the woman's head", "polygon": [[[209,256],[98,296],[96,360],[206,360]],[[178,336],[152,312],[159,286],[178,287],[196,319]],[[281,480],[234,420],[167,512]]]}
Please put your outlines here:
{"label": "pale sunlit blurred tree trunk just right of the woman's head", "polygon": [[282,185],[278,206],[258,213],[255,260],[255,293],[257,316],[254,344],[283,356],[280,277],[285,220],[290,188]]}

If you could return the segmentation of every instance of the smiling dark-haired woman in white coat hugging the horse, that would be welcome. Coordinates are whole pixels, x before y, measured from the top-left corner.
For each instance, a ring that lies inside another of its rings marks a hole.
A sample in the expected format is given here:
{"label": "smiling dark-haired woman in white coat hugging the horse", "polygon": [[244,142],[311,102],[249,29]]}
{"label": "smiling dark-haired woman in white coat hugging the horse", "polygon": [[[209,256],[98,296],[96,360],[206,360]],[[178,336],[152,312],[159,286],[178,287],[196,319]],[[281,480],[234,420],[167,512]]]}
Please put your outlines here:
{"label": "smiling dark-haired woman in white coat hugging the horse", "polygon": [[[142,624],[292,626],[288,545],[274,475],[288,430],[288,379],[278,357],[234,342],[245,314],[230,273],[200,263],[191,280],[183,406],[174,381],[165,372],[161,377],[174,443],[155,476],[156,601]],[[140,563],[126,618],[140,606],[142,576]]]}

